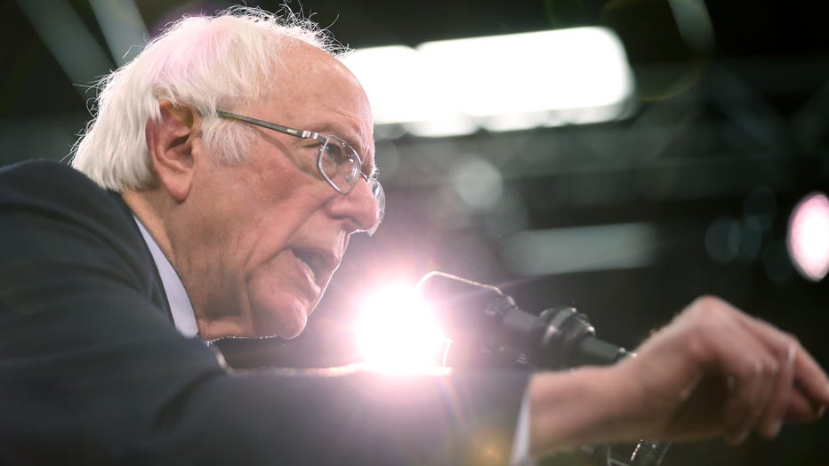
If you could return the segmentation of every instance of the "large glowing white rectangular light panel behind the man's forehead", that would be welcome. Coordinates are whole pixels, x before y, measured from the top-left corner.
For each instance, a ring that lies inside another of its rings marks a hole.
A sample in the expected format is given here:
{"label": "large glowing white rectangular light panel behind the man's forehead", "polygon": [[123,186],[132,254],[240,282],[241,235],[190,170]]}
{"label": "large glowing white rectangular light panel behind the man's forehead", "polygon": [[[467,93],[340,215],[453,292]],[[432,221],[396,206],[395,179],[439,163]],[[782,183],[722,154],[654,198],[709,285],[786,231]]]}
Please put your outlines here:
{"label": "large glowing white rectangular light panel behind the man's forehead", "polygon": [[633,93],[624,47],[607,28],[358,49],[343,62],[376,125],[422,136],[607,121]]}

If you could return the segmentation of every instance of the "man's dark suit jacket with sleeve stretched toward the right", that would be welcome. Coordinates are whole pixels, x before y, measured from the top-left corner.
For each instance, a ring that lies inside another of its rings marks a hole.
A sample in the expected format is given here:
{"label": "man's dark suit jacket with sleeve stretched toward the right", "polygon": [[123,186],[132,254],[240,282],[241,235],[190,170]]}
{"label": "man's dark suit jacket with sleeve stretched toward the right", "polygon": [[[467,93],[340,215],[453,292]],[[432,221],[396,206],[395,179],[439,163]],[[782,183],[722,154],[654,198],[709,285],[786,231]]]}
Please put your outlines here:
{"label": "man's dark suit jacket with sleeve stretched toward the right", "polygon": [[488,464],[526,374],[234,373],[181,336],[124,205],[0,171],[0,464]]}

